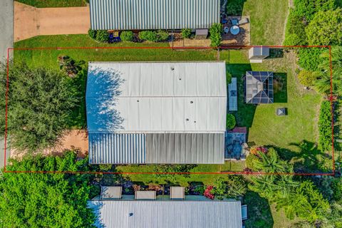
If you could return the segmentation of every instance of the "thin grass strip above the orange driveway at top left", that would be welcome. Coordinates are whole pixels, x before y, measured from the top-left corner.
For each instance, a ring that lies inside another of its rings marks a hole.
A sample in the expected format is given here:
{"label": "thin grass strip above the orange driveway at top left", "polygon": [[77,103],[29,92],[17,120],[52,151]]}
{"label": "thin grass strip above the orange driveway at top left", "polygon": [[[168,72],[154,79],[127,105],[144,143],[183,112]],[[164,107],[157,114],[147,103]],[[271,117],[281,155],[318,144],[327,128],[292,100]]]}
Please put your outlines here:
{"label": "thin grass strip above the orange driveway at top left", "polygon": [[38,8],[86,6],[86,0],[16,0]]}

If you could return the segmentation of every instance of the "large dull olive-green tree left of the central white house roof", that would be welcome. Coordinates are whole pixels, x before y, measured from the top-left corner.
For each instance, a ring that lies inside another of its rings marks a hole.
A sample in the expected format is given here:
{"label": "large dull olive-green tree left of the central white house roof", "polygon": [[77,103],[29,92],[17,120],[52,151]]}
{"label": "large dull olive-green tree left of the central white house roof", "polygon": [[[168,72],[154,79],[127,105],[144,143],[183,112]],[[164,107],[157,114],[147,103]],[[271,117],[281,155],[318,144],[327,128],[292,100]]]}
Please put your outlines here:
{"label": "large dull olive-green tree left of the central white house roof", "polygon": [[[0,68],[0,125],[4,134],[6,65]],[[11,146],[38,150],[52,146],[68,126],[78,92],[72,79],[46,68],[9,65],[8,130]]]}

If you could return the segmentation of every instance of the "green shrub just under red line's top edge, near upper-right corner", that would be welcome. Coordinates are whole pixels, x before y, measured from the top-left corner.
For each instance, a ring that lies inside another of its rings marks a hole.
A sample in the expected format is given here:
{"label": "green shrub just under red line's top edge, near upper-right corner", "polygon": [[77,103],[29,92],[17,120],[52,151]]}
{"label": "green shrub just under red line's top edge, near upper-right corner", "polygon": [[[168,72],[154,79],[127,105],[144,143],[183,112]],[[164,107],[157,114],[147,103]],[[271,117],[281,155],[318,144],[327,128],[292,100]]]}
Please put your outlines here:
{"label": "green shrub just under red line's top edge, near upper-right corner", "polygon": [[317,71],[322,62],[321,54],[326,48],[300,48],[298,51],[298,64],[307,71]]}

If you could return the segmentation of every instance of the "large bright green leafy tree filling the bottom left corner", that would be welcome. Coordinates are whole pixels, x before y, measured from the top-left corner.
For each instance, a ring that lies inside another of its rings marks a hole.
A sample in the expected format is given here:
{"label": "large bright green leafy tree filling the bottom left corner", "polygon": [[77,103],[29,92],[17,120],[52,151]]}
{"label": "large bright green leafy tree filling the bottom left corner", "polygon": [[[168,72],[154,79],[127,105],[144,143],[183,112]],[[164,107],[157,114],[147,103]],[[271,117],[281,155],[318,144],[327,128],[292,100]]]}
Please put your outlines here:
{"label": "large bright green leafy tree filling the bottom left corner", "polygon": [[[87,160],[76,161],[74,152],[11,162],[10,171],[88,170]],[[5,172],[0,177],[0,227],[93,227],[89,182],[88,175]]]}

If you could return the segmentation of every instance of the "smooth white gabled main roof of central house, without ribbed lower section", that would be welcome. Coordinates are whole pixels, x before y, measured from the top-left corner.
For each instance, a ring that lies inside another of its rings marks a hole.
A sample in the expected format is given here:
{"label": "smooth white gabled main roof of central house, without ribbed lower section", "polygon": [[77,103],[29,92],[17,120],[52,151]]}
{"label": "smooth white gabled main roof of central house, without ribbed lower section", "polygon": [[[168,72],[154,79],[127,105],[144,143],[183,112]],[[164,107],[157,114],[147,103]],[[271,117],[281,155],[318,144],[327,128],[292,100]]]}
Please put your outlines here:
{"label": "smooth white gabled main roof of central house, without ribbed lower section", "polygon": [[88,130],[224,132],[225,75],[224,61],[90,62],[86,94]]}

